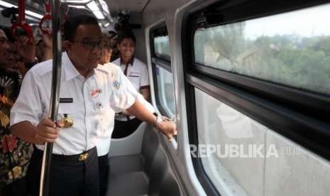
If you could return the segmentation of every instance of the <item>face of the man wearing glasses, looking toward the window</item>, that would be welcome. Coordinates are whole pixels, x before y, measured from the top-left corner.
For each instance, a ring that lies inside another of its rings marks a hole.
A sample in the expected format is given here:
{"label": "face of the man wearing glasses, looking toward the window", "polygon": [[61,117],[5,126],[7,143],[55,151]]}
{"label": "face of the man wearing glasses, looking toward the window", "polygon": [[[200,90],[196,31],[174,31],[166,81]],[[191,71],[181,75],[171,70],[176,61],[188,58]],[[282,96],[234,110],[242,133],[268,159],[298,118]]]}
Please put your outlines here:
{"label": "face of the man wearing glasses, looking toward the window", "polygon": [[80,25],[71,41],[65,41],[70,60],[77,69],[94,69],[102,50],[101,29],[97,25]]}

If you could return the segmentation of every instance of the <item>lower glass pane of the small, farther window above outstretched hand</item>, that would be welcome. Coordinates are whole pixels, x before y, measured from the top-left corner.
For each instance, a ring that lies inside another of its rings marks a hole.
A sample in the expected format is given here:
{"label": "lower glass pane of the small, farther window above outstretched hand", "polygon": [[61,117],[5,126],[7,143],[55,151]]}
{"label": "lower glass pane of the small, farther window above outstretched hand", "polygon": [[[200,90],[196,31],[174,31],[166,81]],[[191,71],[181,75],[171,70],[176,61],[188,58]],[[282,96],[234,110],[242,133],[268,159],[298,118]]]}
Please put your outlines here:
{"label": "lower glass pane of the small, farther window above outstretched hand", "polygon": [[175,114],[175,97],[172,73],[155,65],[158,85],[158,102],[172,118]]}

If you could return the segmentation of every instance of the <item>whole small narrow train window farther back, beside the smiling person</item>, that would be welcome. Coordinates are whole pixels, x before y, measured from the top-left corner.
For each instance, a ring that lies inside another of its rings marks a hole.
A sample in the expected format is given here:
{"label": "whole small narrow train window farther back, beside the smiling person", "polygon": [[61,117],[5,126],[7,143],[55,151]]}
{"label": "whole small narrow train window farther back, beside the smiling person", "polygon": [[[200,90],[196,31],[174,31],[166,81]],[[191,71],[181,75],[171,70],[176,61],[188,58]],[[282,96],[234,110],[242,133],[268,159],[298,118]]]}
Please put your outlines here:
{"label": "whole small narrow train window farther back, beside the smiling person", "polygon": [[160,113],[175,115],[175,97],[170,61],[170,39],[165,23],[150,31],[150,48],[155,83],[155,97]]}

